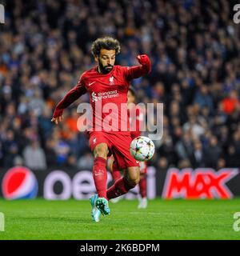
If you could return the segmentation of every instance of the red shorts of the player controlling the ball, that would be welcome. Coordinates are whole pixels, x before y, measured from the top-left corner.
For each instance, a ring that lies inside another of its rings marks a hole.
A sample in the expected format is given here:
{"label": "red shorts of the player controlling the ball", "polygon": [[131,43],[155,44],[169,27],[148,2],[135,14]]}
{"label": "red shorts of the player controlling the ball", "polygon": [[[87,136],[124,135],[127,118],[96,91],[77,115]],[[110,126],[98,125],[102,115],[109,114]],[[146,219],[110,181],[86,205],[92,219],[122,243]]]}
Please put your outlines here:
{"label": "red shorts of the player controlling the ball", "polygon": [[102,131],[90,132],[89,144],[90,149],[94,151],[94,147],[100,143],[106,143],[110,150],[110,154],[114,155],[114,160],[119,170],[126,169],[130,166],[139,166],[139,163],[130,154],[130,143],[132,139],[129,133],[110,134]]}

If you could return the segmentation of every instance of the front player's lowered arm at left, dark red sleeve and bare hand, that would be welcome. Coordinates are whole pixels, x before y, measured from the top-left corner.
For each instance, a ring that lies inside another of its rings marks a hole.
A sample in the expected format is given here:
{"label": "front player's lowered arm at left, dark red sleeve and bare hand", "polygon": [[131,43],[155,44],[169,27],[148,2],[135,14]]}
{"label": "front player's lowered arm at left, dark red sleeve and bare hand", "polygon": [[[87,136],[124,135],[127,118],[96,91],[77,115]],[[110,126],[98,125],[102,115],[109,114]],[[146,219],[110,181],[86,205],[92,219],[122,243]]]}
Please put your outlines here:
{"label": "front player's lowered arm at left, dark red sleeve and bare hand", "polygon": [[70,106],[70,104],[72,104],[75,100],[82,96],[82,94],[85,93],[85,87],[78,82],[78,85],[75,86],[72,90],[70,90],[65,95],[65,97],[62,98],[60,102],[58,102],[58,105],[54,110],[54,116],[51,119],[51,122],[54,122],[56,125],[58,124],[58,122],[61,122],[63,120],[63,110],[66,109],[66,107]]}

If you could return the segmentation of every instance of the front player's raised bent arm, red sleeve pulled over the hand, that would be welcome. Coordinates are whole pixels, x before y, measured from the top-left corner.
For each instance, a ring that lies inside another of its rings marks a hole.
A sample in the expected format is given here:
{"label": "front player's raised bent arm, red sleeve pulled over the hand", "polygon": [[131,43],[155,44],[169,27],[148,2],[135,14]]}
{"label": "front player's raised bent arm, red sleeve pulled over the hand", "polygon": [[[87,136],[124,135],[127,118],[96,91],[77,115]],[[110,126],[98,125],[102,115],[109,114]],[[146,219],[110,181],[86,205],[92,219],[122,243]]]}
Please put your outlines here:
{"label": "front player's raised bent arm, red sleeve pulled over the hand", "polygon": [[138,66],[131,66],[126,70],[126,79],[132,80],[134,78],[142,77],[143,75],[149,74],[151,71],[150,58],[146,54],[138,55],[137,60]]}

